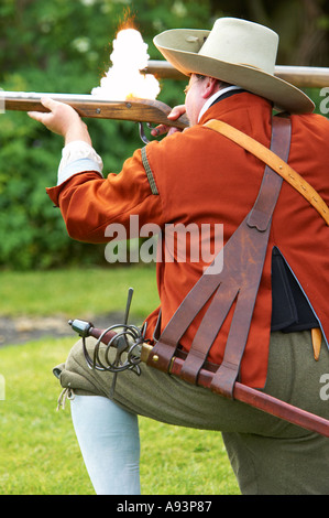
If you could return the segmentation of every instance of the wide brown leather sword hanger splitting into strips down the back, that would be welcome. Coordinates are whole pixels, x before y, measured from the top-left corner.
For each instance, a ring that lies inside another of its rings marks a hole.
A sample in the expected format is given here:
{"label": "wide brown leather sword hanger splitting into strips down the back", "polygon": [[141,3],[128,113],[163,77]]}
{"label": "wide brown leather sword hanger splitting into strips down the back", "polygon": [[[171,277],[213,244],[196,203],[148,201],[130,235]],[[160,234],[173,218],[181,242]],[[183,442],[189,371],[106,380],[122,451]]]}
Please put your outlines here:
{"label": "wide brown leather sword hanger splitting into strips down the back", "polygon": [[[216,130],[216,127],[211,129]],[[287,162],[289,148],[290,120],[274,117],[271,150]],[[191,384],[198,384],[198,375],[209,349],[231,306],[234,305],[223,360],[210,386],[213,392],[233,398],[262,277],[272,215],[282,182],[282,176],[266,165],[253,208],[220,252],[223,252],[224,261],[219,253],[189,291],[150,353],[150,366],[171,371],[182,336],[213,295],[183,364],[180,377]]]}

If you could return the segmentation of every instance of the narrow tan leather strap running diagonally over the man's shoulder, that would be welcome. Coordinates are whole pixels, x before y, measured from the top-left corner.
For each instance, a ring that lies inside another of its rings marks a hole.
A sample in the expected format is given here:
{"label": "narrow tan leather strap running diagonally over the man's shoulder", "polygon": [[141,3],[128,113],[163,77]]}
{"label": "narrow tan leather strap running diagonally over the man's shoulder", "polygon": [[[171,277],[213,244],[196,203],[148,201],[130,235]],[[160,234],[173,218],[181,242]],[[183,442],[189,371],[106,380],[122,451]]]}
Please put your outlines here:
{"label": "narrow tan leather strap running diagonally over the man's shoulder", "polygon": [[310,205],[320,214],[326,224],[329,225],[329,208],[326,202],[321,198],[319,193],[303,179],[294,169],[292,169],[285,160],[282,160],[275,153],[271,152],[265,145],[255,141],[248,134],[239,131],[237,128],[223,122],[222,120],[209,120],[204,125],[207,128],[215,129],[222,136],[229,138],[237,144],[250,151],[260,160],[265,162],[279,174],[286,182],[288,182],[301,196],[304,196]]}

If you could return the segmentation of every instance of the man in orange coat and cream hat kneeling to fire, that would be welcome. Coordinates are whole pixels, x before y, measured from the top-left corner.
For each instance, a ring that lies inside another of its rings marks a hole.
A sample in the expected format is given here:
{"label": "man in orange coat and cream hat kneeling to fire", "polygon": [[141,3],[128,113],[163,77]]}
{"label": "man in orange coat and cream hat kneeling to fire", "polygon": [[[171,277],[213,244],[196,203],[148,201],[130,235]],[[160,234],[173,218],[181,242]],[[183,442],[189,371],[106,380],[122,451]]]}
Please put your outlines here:
{"label": "man in orange coat and cream hat kneeling to fire", "polygon": [[[140,226],[208,224],[213,240],[215,225],[223,227],[221,271],[182,262],[175,250],[157,262],[161,307],[136,332],[150,345],[140,376],[102,368],[108,348],[90,337],[55,369],[73,398],[94,487],[140,493],[142,414],[221,431],[243,494],[328,494],[328,438],[238,401],[234,390],[242,384],[329,419],[320,397],[329,370],[329,122],[275,77],[278,37],[265,26],[223,18],[211,31],[166,31],[154,43],[189,76],[185,105],[167,118],[186,114],[190,127],[136,150],[120,174],[103,179],[70,106],[45,99],[47,114],[30,112],[65,139],[47,193],[74,239],[106,242],[107,226],[128,228],[131,215]],[[118,338],[114,359],[120,347]],[[102,363],[92,368],[95,353]]]}

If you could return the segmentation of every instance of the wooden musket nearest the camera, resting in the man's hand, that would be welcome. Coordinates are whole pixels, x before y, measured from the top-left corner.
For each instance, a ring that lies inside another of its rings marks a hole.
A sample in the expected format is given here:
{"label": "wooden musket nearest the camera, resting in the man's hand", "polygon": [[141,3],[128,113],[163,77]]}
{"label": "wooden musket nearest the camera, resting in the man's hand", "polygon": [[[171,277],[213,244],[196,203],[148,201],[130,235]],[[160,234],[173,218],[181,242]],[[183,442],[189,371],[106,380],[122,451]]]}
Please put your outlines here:
{"label": "wooden musket nearest the camera, resting in the man's hand", "polygon": [[116,101],[94,95],[0,90],[0,106],[4,111],[47,112],[47,108],[41,104],[43,97],[51,97],[72,106],[83,118],[130,120],[149,125],[166,125],[178,129],[185,129],[189,126],[186,116],[180,116],[177,120],[169,120],[167,115],[172,111],[172,108],[160,100],[150,99]]}

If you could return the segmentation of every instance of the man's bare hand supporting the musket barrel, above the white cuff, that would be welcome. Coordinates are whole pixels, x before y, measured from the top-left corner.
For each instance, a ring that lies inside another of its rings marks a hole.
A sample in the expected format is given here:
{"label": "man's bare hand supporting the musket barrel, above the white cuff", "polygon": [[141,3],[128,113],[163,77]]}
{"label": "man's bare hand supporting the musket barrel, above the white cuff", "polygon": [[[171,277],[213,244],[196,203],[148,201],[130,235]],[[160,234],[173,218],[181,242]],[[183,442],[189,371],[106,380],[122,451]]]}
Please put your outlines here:
{"label": "man's bare hand supporting the musket barrel, above the white cuff", "polygon": [[65,144],[74,140],[83,140],[91,145],[87,126],[74,108],[48,97],[42,98],[41,102],[50,112],[29,111],[28,115],[32,119],[42,122],[54,133],[62,134]]}

